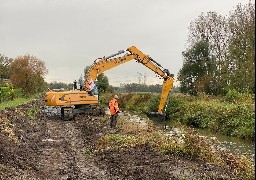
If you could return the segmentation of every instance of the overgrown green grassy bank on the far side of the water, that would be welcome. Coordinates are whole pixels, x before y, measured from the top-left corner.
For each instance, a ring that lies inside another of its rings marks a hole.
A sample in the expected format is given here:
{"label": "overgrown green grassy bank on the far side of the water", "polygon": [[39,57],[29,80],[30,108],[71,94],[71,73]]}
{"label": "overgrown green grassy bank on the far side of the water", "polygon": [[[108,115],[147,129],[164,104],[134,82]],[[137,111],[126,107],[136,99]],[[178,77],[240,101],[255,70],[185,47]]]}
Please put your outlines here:
{"label": "overgrown green grassy bank on the far side of the water", "polygon": [[[106,104],[113,94],[101,96]],[[159,94],[120,94],[120,107],[139,114],[157,112]],[[253,96],[187,96],[172,94],[166,110],[169,120],[227,136],[255,141]]]}

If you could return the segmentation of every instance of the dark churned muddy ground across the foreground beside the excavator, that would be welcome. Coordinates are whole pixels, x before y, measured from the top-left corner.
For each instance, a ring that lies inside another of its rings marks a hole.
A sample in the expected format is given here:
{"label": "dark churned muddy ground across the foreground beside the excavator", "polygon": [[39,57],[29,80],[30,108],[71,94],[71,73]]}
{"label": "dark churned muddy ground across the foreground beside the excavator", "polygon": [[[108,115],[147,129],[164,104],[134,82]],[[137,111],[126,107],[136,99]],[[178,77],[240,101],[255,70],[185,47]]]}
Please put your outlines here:
{"label": "dark churned muddy ground across the foreground beside the excavator", "polygon": [[27,109],[35,106],[43,109],[41,99],[0,111],[0,179],[236,179],[228,170],[147,144],[93,153],[101,136],[115,133],[107,118],[63,121],[39,113],[30,119]]}

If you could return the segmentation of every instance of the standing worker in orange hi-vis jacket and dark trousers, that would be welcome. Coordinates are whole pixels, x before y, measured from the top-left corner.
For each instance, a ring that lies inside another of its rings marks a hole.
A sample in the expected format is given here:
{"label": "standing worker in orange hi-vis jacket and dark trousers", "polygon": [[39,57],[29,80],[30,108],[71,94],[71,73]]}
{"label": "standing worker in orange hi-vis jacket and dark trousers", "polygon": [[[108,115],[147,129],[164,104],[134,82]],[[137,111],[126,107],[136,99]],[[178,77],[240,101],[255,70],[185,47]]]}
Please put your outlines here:
{"label": "standing worker in orange hi-vis jacket and dark trousers", "polygon": [[120,112],[117,99],[118,99],[118,96],[115,95],[114,98],[109,101],[109,109],[110,109],[110,114],[111,114],[111,118],[110,118],[110,127],[111,128],[116,127],[117,116],[118,116],[118,113]]}

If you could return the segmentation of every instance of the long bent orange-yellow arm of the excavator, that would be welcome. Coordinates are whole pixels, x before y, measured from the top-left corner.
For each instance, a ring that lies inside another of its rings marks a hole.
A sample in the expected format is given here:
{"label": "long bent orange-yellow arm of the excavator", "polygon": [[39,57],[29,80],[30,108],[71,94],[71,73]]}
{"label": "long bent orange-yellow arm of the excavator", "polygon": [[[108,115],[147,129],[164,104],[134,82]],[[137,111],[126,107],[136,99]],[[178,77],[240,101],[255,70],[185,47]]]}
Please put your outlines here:
{"label": "long bent orange-yellow arm of the excavator", "polygon": [[[126,54],[124,54],[126,52]],[[124,54],[120,57],[118,55]],[[163,114],[166,102],[169,97],[170,90],[173,87],[174,75],[170,74],[168,69],[164,69],[159,63],[153,60],[148,55],[142,53],[135,46],[129,47],[126,51],[122,50],[118,53],[112,54],[108,57],[98,58],[90,66],[85,80],[85,87],[87,91],[91,91],[90,83],[95,81],[97,76],[111,68],[124,64],[128,61],[136,60],[138,63],[143,64],[147,68],[151,69],[157,75],[161,76],[163,81],[162,94],[158,107],[158,113]]]}

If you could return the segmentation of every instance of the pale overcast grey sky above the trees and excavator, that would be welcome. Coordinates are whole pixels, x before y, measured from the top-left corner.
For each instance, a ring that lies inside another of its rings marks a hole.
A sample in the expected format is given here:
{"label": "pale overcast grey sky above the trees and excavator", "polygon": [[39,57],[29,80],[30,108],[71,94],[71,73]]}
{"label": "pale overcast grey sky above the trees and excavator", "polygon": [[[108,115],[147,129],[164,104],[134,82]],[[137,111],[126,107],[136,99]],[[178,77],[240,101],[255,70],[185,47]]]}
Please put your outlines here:
{"label": "pale overcast grey sky above the trees and excavator", "polygon": [[[0,0],[0,54],[45,61],[46,81],[72,83],[99,57],[136,46],[177,77],[188,26],[249,0]],[[162,83],[135,61],[105,72],[111,85]],[[142,79],[143,81],[144,79]]]}

